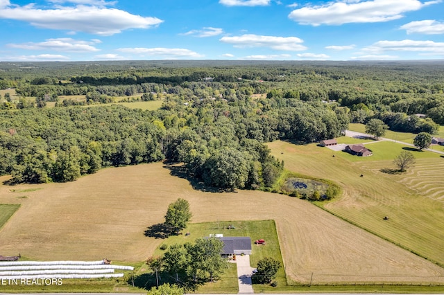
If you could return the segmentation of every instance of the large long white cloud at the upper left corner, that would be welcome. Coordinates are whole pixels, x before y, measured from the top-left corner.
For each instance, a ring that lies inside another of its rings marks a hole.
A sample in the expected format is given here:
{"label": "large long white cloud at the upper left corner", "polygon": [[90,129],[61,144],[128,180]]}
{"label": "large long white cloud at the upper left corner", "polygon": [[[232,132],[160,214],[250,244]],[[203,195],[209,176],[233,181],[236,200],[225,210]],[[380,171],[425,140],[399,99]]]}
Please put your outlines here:
{"label": "large long white cloud at the upper left corner", "polygon": [[130,28],[150,28],[162,23],[162,20],[156,17],[141,17],[115,8],[78,5],[75,7],[57,6],[53,9],[37,9],[33,4],[11,6],[8,0],[0,0],[0,19],[27,21],[38,28],[80,31],[104,36],[121,33],[122,30]]}

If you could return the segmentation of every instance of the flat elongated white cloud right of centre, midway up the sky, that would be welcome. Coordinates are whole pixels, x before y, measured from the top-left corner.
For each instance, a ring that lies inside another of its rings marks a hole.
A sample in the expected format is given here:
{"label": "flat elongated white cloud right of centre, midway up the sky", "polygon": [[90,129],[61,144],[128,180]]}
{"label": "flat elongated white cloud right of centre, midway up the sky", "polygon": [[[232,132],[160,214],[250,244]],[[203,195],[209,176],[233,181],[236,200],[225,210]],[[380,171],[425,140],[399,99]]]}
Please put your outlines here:
{"label": "flat elongated white cloud right of centre, midway up the sky", "polygon": [[222,37],[219,41],[233,44],[234,47],[268,47],[282,51],[303,51],[307,47],[301,45],[304,41],[298,37],[275,37],[246,34],[234,37]]}

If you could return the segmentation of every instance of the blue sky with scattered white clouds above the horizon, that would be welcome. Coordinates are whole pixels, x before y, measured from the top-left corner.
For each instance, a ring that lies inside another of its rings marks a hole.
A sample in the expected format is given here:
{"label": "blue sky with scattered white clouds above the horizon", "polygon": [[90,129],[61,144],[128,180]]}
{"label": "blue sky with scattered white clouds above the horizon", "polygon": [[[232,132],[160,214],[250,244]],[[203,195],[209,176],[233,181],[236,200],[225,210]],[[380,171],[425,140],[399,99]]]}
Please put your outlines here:
{"label": "blue sky with scattered white clouds above the horizon", "polygon": [[443,0],[0,0],[0,61],[438,60]]}

